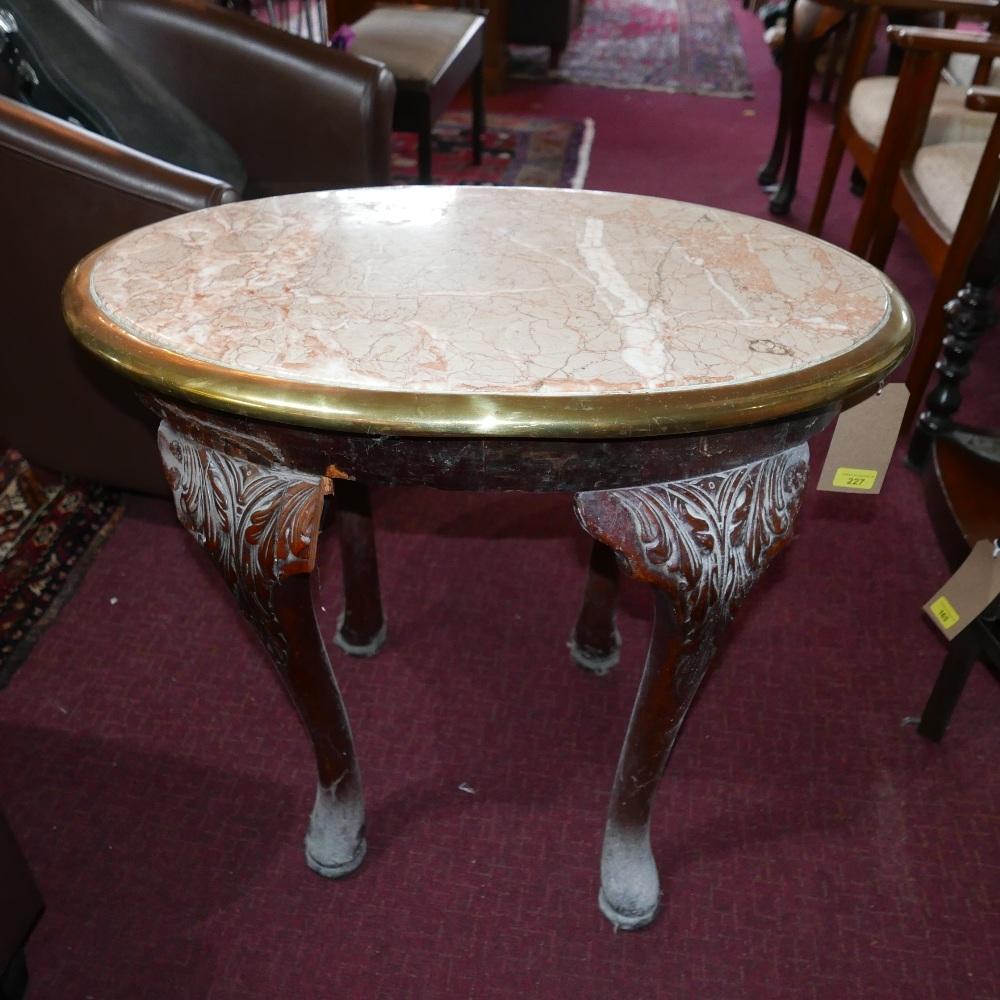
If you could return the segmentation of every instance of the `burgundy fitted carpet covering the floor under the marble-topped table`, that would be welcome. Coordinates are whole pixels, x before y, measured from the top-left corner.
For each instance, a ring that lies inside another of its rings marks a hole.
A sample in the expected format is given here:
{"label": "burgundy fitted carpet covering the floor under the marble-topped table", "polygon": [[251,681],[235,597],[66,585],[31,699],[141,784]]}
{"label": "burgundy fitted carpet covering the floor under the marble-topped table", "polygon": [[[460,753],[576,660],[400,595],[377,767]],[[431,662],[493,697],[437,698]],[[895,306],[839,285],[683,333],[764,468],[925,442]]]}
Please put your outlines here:
{"label": "burgundy fitted carpet covering the floor under the marble-topped table", "polygon": [[[777,76],[733,10],[753,105],[519,84],[491,107],[593,117],[588,187],[766,216]],[[831,238],[856,210],[845,179]],[[905,240],[889,272],[922,308]],[[998,365],[989,337],[970,418],[996,421]],[[648,595],[625,588],[620,668],[589,677],[565,649],[587,552],[565,498],[376,506],[389,642],[331,650],[370,851],[331,884],[303,863],[311,756],[263,653],[167,505],[130,499],[0,692],[0,800],[48,901],[32,1000],[997,996],[1000,686],[975,671],[940,746],[903,724],[943,657],[920,606],[945,563],[912,474],[807,493],[681,734],[654,818],[664,911],[638,934],[599,915],[597,859]],[[336,581],[328,546],[328,631]]]}

